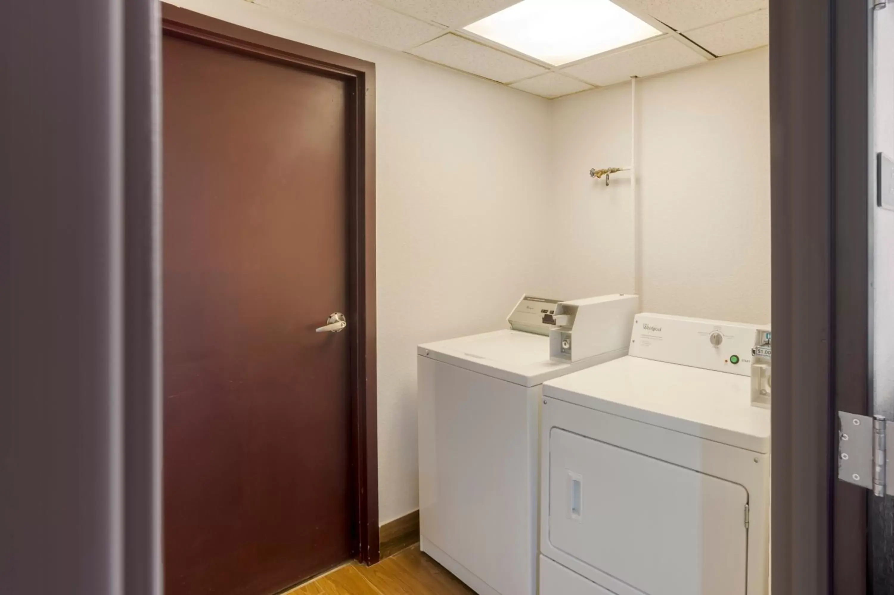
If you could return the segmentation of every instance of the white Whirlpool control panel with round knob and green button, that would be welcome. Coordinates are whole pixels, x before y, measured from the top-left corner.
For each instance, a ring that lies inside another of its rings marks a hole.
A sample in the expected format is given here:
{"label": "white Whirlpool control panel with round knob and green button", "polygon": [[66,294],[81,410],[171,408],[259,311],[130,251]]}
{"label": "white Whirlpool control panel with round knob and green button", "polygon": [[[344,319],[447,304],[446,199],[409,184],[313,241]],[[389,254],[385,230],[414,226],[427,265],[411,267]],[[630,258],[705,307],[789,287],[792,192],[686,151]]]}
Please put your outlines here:
{"label": "white Whirlpool control panel with round knob and green button", "polygon": [[637,314],[630,355],[693,368],[751,375],[751,349],[767,325]]}

